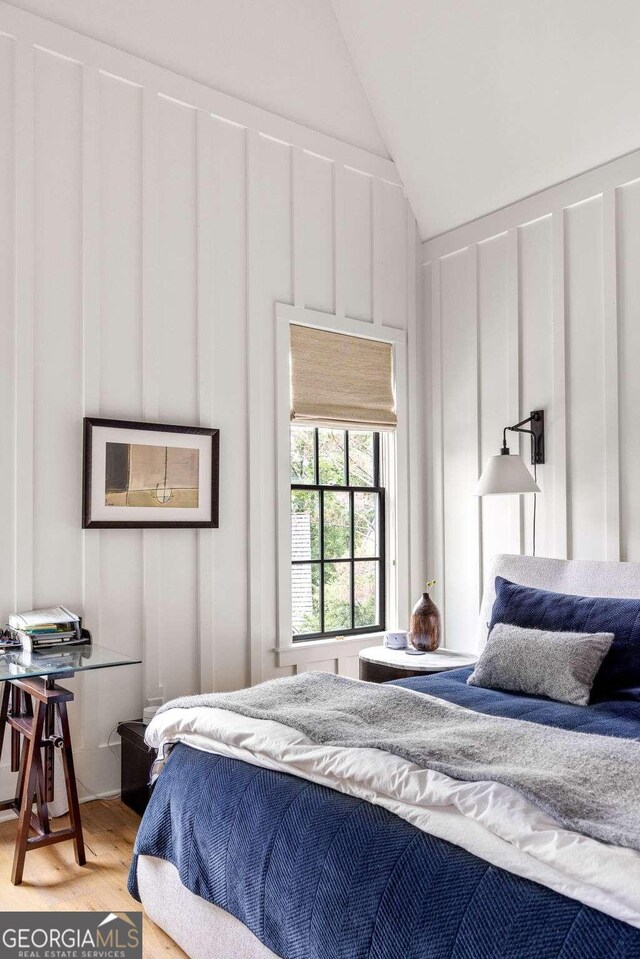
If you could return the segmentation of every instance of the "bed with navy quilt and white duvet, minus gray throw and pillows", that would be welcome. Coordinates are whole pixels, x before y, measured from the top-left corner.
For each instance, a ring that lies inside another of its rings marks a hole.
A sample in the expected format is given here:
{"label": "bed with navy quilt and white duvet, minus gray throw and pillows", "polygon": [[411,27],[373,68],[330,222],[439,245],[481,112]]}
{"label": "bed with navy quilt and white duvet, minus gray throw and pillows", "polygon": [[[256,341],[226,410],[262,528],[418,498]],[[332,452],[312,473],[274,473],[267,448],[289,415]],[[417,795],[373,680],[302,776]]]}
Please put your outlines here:
{"label": "bed with navy quilt and white duvet, minus gray throw and pillows", "polygon": [[[577,595],[640,597],[635,564],[503,556],[493,573]],[[390,685],[394,695],[411,691],[412,705],[464,707],[479,728],[505,717],[550,739],[640,741],[633,694],[573,706],[469,686],[469,673]],[[206,724],[216,715],[227,735],[217,732],[212,746]],[[193,959],[640,959],[636,849],[559,826],[496,783],[429,774],[429,795],[441,799],[418,808],[387,788],[403,780],[404,759],[362,748],[327,758],[325,749],[320,768],[319,747],[288,733],[197,704],[163,713],[151,731],[175,745],[139,830],[130,890]],[[347,785],[331,778],[340,762],[351,770]],[[412,769],[406,781],[415,785],[426,774]]]}

